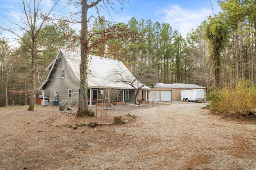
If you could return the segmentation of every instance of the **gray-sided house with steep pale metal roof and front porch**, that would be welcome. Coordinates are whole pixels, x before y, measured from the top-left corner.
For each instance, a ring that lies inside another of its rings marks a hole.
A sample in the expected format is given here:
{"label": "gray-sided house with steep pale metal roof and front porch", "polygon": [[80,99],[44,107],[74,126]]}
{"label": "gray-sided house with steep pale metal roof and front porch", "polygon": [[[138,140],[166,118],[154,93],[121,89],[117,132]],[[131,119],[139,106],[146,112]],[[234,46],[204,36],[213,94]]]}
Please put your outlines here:
{"label": "gray-sided house with steep pale metal roof and front porch", "polygon": [[[114,59],[88,56],[88,104],[92,106],[97,102],[99,91],[104,88],[118,89],[116,100],[119,102],[134,102],[135,90],[132,86],[123,82],[116,82],[113,72],[120,71],[126,74],[126,78],[134,78],[132,73],[121,62]],[[50,70],[48,78],[40,87],[44,95],[49,94],[50,103],[57,105],[62,100],[68,100],[73,105],[78,104],[80,91],[80,53],[60,49],[54,61],[48,66]],[[112,75],[112,76],[111,76]],[[137,85],[142,85],[136,81]],[[141,90],[147,93],[150,88],[144,86]],[[147,96],[147,95],[146,95]],[[146,98],[147,100],[147,98]],[[58,102],[57,102],[58,101]]]}

